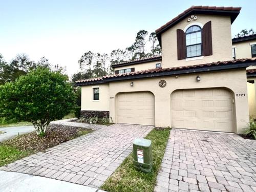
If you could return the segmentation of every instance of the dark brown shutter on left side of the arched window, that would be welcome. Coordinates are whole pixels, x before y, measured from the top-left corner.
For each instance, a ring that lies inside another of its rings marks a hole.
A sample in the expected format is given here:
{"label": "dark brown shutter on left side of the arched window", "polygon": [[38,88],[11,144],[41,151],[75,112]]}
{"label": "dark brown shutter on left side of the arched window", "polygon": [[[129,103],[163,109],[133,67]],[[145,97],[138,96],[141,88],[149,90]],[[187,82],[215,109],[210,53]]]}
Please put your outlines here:
{"label": "dark brown shutter on left side of the arched window", "polygon": [[178,60],[186,58],[186,36],[181,29],[177,29],[177,54]]}

